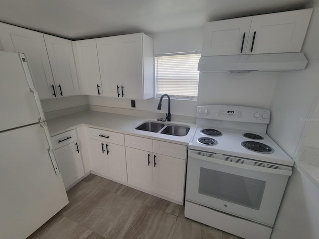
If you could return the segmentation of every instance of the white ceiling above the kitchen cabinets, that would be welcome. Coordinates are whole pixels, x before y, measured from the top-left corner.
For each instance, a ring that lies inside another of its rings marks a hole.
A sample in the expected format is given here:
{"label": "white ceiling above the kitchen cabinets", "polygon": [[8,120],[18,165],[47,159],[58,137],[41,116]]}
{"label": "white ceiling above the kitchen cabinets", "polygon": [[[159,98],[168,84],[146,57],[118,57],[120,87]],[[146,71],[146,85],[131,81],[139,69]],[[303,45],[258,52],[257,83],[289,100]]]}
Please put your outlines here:
{"label": "white ceiling above the kitchen cabinets", "polygon": [[69,39],[202,27],[309,0],[0,0],[0,21]]}

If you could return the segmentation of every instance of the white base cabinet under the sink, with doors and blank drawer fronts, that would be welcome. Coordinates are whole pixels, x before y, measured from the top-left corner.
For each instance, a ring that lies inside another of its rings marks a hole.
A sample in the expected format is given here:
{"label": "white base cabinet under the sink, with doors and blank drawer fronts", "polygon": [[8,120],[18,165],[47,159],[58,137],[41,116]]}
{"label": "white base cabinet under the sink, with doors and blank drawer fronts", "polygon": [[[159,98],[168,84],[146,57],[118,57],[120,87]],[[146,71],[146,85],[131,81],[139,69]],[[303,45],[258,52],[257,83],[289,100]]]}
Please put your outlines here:
{"label": "white base cabinet under the sink, with doors and blank drawer fronts", "polygon": [[125,145],[128,183],[182,204],[187,147],[132,135]]}

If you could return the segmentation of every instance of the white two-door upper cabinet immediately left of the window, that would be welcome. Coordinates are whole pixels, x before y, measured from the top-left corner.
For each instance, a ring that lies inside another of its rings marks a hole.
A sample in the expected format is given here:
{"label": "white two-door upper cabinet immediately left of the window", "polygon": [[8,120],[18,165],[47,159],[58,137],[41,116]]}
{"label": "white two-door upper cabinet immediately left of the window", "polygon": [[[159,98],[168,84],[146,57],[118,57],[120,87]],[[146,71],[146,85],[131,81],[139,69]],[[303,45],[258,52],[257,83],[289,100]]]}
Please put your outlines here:
{"label": "white two-door upper cabinet immediately left of the window", "polygon": [[153,39],[144,33],[96,39],[103,96],[154,96]]}

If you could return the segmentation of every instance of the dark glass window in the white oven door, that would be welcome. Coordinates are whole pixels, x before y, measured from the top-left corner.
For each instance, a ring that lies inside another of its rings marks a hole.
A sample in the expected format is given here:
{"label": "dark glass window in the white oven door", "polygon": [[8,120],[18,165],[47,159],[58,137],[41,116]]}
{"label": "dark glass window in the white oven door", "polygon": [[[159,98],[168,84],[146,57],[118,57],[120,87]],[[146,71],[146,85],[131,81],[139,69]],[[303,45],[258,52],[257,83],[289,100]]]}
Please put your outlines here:
{"label": "dark glass window in the white oven door", "polygon": [[200,168],[198,193],[259,210],[266,182]]}

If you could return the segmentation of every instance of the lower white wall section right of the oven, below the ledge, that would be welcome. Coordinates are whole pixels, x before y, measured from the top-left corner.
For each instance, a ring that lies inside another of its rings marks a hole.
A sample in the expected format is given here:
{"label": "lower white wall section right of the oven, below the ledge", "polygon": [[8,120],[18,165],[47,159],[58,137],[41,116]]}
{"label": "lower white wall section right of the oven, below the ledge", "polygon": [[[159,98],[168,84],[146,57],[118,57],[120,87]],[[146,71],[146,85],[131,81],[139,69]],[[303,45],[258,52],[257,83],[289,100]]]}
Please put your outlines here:
{"label": "lower white wall section right of the oven, below the ledge", "polygon": [[294,170],[271,239],[319,238],[319,190]]}

